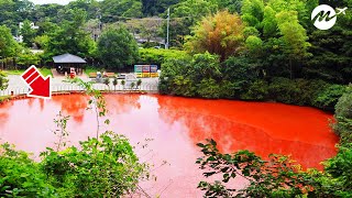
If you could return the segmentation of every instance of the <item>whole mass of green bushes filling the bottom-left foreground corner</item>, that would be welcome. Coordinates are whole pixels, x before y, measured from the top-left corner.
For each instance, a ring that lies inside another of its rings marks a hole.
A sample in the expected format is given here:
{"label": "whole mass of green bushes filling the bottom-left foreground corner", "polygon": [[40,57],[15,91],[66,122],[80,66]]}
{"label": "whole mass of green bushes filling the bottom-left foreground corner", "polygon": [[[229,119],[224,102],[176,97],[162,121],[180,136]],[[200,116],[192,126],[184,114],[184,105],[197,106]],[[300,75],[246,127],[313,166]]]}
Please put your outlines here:
{"label": "whole mass of green bushes filling the bottom-left foreground corner", "polygon": [[106,132],[80,146],[47,148],[36,163],[9,144],[0,147],[0,197],[120,197],[147,177],[124,136]]}

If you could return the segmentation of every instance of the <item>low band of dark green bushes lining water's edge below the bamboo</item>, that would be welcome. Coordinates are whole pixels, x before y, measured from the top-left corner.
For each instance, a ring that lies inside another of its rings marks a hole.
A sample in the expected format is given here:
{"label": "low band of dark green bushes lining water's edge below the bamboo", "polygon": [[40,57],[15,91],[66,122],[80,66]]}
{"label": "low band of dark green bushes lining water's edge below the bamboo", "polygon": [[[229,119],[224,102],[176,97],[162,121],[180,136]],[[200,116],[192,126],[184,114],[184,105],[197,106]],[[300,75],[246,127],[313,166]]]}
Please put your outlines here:
{"label": "low band of dark green bushes lining water's edge below the bamboo", "polygon": [[209,53],[167,59],[160,80],[165,95],[277,101],[331,111],[344,89],[319,79],[267,78],[257,63],[245,57],[220,63]]}

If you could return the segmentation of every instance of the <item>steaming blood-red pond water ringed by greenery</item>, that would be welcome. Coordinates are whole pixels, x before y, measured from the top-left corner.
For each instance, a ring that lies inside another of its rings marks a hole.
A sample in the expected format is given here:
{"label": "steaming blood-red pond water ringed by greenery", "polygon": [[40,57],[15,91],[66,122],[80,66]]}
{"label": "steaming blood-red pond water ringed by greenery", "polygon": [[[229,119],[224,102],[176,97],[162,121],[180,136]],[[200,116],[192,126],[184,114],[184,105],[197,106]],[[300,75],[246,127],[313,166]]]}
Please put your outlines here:
{"label": "steaming blood-red pond water ringed by greenery", "polygon": [[[141,161],[155,165],[156,182],[142,184],[152,195],[201,197],[197,184],[202,176],[195,164],[201,154],[195,144],[209,138],[224,152],[292,155],[304,167],[319,169],[319,163],[337,152],[338,138],[329,128],[332,116],[312,108],[154,95],[109,95],[106,100],[111,123],[101,130],[125,134]],[[72,95],[0,105],[0,142],[37,156],[57,141],[53,120],[59,111],[72,116],[70,144],[95,136],[96,116],[86,110],[87,101],[86,96]],[[153,141],[142,148],[138,143],[145,139]],[[163,161],[167,164],[161,166]],[[238,179],[235,185],[244,183]]]}

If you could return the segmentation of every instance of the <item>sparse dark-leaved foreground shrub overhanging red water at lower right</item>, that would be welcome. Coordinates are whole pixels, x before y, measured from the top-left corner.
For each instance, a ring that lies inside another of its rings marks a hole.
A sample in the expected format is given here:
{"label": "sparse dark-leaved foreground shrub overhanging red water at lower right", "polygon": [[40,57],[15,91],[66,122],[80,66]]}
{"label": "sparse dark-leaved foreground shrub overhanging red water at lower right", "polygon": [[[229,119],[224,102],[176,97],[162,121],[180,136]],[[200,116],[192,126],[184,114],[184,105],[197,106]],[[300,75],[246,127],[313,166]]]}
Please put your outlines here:
{"label": "sparse dark-leaved foreground shrub overhanging red water at lower right", "polygon": [[[321,173],[302,172],[298,164],[283,155],[272,154],[264,161],[250,151],[223,154],[213,140],[207,141],[197,144],[202,156],[196,163],[205,177],[216,175],[221,180],[200,182],[198,188],[205,191],[204,197],[322,197],[320,184],[316,182],[317,177],[326,177]],[[249,182],[243,189],[227,185],[239,176]]]}

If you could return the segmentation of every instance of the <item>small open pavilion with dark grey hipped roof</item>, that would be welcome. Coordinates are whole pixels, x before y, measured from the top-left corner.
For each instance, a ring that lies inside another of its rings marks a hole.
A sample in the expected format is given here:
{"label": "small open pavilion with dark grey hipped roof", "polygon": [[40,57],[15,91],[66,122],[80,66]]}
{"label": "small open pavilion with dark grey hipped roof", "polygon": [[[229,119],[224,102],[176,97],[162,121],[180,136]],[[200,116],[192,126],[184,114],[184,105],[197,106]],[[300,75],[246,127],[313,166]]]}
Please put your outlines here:
{"label": "small open pavilion with dark grey hipped roof", "polygon": [[82,74],[82,67],[87,64],[87,62],[79,57],[72,54],[63,54],[53,57],[56,70],[59,74],[69,74],[70,68],[74,67],[77,75]]}

